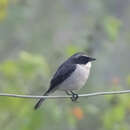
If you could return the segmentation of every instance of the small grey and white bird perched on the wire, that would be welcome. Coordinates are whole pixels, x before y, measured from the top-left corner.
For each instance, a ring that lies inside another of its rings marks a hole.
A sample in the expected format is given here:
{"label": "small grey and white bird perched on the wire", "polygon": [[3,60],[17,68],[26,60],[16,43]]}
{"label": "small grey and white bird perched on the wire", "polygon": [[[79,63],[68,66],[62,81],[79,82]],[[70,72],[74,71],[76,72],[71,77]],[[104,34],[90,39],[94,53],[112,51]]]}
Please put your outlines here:
{"label": "small grey and white bird perched on the wire", "polygon": [[[71,100],[76,101],[78,94],[74,91],[81,89],[85,85],[89,77],[91,62],[95,60],[95,58],[88,56],[85,52],[77,52],[70,56],[52,76],[50,87],[43,96],[48,96],[56,90],[61,90],[65,91],[67,95],[72,95]],[[45,98],[39,99],[34,109],[38,109],[43,101],[45,101]]]}

